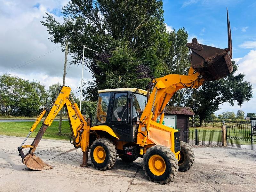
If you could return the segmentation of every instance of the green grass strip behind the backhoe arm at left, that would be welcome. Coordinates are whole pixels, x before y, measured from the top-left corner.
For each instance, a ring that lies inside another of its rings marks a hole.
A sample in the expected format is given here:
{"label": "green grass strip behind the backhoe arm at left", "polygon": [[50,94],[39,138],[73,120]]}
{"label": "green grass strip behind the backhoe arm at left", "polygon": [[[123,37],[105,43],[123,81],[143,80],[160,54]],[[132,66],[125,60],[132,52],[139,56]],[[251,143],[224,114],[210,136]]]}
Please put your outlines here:
{"label": "green grass strip behind the backhoe arm at left", "polygon": [[[28,122],[0,122],[0,135],[26,137],[34,121]],[[39,124],[30,137],[35,137],[42,124]],[[44,133],[44,139],[69,140],[72,133],[69,122],[62,121],[61,134],[59,134],[59,121],[53,121],[52,125]]]}

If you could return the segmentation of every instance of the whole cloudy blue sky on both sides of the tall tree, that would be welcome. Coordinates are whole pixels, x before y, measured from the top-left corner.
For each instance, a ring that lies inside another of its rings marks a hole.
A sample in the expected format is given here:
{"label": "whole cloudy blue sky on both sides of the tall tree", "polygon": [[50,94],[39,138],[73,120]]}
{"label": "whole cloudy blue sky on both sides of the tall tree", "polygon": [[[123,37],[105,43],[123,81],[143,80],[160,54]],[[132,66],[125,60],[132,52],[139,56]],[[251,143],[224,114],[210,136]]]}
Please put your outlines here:
{"label": "whole cloudy blue sky on both sides of the tall tree", "polygon": [[[50,36],[47,29],[40,21],[43,20],[45,12],[48,12],[61,23],[61,7],[67,2],[0,0],[0,75],[6,73],[39,81],[46,89],[51,84],[62,83],[65,53],[60,44],[54,44],[48,39]],[[189,42],[196,37],[199,43],[218,48],[228,47],[228,7],[233,60],[239,66],[238,73],[246,74],[245,80],[252,84],[254,96],[242,107],[236,103],[234,106],[224,103],[220,105],[216,115],[225,111],[236,113],[237,110],[245,113],[256,112],[256,1],[164,0],[163,3],[167,30],[184,27],[188,32]],[[68,56],[68,61],[70,60],[71,57]],[[73,65],[67,70],[66,85],[75,92],[76,87],[81,84],[81,69],[81,65]],[[91,78],[91,74],[84,71],[84,79]]]}

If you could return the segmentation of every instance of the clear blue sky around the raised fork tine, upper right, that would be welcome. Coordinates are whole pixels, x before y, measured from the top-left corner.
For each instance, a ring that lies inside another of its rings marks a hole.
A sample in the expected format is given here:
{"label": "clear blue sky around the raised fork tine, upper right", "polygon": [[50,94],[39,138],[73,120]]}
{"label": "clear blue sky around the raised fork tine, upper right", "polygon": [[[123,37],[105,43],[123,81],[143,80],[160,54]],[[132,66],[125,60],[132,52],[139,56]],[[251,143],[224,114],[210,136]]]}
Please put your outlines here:
{"label": "clear blue sky around the raised fork tine, upper right", "polygon": [[233,58],[243,57],[250,49],[242,48],[242,44],[256,40],[256,1],[164,0],[164,20],[175,29],[185,27],[190,36],[203,40],[201,43],[226,48],[226,7],[232,31]]}

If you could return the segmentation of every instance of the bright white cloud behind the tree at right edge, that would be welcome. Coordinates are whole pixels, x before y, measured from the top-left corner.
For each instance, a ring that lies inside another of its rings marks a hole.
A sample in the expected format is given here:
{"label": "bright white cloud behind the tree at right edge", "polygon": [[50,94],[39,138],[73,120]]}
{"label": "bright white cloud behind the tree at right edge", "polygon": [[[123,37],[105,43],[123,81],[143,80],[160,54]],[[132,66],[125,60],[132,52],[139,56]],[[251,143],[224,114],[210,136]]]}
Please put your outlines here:
{"label": "bright white cloud behind the tree at right edge", "polygon": [[240,108],[239,105],[235,102],[234,106],[229,106],[229,103],[224,103],[223,105],[219,106],[219,110],[216,111],[215,114],[220,114],[224,111],[233,111],[237,112],[237,110],[242,110],[247,113],[255,113],[256,112],[256,50],[251,50],[247,55],[245,55],[242,58],[236,58],[234,59],[236,63],[238,64],[238,73],[244,73],[246,76],[244,77],[244,80],[249,81],[252,84],[252,92],[253,97],[250,101],[244,102],[242,107]]}

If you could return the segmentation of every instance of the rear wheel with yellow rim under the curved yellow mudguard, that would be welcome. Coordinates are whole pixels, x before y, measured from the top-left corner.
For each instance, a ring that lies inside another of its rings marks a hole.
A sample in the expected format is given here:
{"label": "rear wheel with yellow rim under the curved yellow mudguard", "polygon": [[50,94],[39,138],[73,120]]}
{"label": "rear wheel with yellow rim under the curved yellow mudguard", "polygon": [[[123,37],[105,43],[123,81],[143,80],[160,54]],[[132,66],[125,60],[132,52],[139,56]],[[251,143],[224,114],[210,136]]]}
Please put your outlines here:
{"label": "rear wheel with yellow rim under the curved yellow mudguard", "polygon": [[116,162],[116,147],[109,139],[96,139],[91,145],[90,156],[96,169],[110,169]]}

